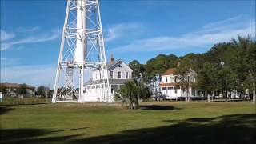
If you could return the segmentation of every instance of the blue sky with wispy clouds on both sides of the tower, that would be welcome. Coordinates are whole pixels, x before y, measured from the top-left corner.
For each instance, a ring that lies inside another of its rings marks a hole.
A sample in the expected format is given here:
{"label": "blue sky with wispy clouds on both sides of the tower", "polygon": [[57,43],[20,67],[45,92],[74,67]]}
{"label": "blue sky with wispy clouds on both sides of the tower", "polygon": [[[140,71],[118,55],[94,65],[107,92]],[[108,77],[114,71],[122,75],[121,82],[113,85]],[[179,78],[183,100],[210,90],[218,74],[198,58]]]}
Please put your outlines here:
{"label": "blue sky with wispy clouds on both sides of the tower", "polygon": [[[1,82],[52,84],[65,0],[1,0]],[[106,55],[145,63],[255,36],[255,1],[100,0]]]}

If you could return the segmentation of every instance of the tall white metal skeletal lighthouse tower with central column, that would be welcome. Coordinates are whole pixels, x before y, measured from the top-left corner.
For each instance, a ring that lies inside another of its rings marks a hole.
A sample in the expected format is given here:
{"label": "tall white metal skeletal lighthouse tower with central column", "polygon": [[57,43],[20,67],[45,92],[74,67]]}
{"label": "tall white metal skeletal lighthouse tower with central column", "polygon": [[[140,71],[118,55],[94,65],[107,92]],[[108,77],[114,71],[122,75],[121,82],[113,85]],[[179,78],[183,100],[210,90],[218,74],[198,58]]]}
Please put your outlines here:
{"label": "tall white metal skeletal lighthouse tower with central column", "polygon": [[52,102],[83,102],[93,70],[102,74],[99,101],[112,102],[98,0],[68,0]]}

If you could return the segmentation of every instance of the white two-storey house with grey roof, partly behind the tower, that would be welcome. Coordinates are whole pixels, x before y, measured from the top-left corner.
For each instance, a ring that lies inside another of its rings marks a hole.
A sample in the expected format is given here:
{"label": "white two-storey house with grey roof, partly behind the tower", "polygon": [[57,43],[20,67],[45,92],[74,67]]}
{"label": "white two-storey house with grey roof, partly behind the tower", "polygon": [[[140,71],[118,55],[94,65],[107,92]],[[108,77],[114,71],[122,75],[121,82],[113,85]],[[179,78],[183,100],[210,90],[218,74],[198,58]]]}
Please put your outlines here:
{"label": "white two-storey house with grey roof, partly behind the tower", "polygon": [[114,61],[113,55],[111,55],[110,62],[107,62],[107,72],[103,73],[99,70],[93,71],[92,78],[84,84],[83,102],[101,102],[101,89],[98,83],[104,77],[104,74],[108,74],[110,82],[110,95],[112,102],[114,101],[114,94],[118,93],[121,85],[129,81],[132,78],[132,71],[126,63],[121,59]]}

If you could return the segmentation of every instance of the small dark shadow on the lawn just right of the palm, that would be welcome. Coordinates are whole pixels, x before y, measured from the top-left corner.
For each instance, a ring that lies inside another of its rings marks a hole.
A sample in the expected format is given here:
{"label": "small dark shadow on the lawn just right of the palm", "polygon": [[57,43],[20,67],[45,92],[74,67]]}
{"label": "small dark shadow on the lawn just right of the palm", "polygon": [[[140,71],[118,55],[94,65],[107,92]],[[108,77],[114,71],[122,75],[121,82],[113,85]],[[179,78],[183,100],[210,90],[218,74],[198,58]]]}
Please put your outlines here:
{"label": "small dark shadow on the lawn just right of the palm", "polygon": [[138,110],[179,110],[174,106],[161,106],[161,105],[142,105]]}

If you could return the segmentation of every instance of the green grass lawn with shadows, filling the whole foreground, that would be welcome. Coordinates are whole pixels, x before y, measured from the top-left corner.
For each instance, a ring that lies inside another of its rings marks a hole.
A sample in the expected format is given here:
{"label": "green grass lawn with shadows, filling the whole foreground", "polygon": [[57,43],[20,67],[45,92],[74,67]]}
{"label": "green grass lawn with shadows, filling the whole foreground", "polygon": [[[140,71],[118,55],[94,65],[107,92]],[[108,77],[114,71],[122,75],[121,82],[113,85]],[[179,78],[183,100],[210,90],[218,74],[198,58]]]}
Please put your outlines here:
{"label": "green grass lawn with shadows, filling the whole foreground", "polygon": [[2,143],[254,143],[251,102],[1,106]]}

